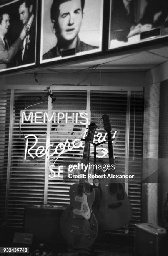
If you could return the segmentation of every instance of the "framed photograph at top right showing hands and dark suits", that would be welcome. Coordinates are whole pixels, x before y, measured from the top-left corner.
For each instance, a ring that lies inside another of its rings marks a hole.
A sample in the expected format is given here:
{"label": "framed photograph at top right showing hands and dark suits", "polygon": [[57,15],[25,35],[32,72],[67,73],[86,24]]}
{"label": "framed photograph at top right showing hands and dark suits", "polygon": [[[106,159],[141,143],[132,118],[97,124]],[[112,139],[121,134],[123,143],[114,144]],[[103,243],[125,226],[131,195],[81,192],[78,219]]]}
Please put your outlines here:
{"label": "framed photograph at top right showing hands and dark suits", "polygon": [[110,0],[108,49],[168,36],[167,0]]}

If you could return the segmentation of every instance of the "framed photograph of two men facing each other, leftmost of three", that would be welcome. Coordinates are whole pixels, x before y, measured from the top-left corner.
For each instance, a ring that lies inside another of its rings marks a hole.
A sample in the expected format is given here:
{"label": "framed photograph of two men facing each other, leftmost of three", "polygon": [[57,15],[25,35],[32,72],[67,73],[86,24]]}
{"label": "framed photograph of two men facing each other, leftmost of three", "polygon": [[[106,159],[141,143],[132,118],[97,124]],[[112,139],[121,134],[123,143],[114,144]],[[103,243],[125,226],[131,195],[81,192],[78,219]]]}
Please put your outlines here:
{"label": "framed photograph of two men facing each other, leftmost of three", "polygon": [[37,0],[0,5],[0,72],[36,63]]}

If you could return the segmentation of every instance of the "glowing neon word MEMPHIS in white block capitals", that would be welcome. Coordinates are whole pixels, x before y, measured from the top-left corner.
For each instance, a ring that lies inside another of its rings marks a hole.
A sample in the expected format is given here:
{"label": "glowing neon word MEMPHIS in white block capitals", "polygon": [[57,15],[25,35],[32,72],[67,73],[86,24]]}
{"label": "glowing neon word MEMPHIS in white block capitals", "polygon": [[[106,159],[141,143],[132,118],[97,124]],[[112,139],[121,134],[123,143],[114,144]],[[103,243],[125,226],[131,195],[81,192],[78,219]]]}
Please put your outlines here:
{"label": "glowing neon word MEMPHIS in white block capitals", "polygon": [[60,123],[64,121],[68,123],[70,121],[73,124],[80,123],[82,125],[86,125],[88,123],[88,114],[85,112],[53,112],[49,117],[47,112],[20,112],[21,123],[24,121],[30,121],[30,123]]}

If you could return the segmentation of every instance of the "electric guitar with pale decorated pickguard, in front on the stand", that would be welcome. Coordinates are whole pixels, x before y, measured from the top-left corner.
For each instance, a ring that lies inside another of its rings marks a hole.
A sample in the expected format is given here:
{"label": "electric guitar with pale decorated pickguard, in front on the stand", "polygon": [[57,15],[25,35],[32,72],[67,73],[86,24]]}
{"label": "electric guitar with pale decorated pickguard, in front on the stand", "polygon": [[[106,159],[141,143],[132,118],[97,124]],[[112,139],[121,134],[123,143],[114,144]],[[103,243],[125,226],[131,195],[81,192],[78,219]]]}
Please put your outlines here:
{"label": "electric guitar with pale decorated pickguard, in front on the stand", "polygon": [[[89,163],[90,141],[93,141],[96,130],[95,123],[88,127],[83,151],[83,164]],[[80,174],[87,173],[81,169]],[[82,176],[82,175],[81,175]],[[70,187],[70,205],[61,216],[61,231],[63,237],[75,248],[87,248],[97,238],[100,232],[100,215],[97,211],[97,198],[100,197],[98,189],[92,188],[87,178],[81,178],[79,183]]]}

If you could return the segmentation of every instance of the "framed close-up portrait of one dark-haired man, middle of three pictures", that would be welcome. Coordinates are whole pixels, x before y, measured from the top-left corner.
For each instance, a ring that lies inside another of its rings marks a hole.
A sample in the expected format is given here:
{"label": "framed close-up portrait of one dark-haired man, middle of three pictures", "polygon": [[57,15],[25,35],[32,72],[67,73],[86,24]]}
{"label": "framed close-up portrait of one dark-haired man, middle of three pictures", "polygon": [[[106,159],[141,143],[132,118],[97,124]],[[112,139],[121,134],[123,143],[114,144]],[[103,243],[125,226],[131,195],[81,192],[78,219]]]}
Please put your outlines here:
{"label": "framed close-up portrait of one dark-haired man, middle of three pictures", "polygon": [[42,0],[40,63],[102,51],[102,27],[103,0]]}

